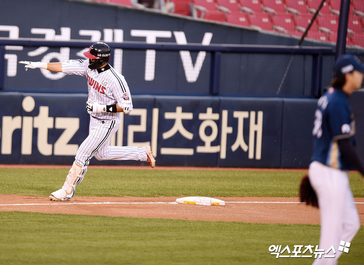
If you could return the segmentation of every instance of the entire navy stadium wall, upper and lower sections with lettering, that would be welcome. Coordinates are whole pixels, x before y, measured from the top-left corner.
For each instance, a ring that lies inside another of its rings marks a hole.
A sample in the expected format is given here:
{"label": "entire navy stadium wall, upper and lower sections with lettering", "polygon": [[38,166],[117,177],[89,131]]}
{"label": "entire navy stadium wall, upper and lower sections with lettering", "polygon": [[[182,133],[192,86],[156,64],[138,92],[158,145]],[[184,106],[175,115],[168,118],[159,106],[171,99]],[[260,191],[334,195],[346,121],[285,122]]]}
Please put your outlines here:
{"label": "entire navy stadium wall, upper and lower sections with lettering", "polygon": [[[19,20],[29,14],[31,20]],[[84,58],[84,49],[102,40],[112,47],[111,65],[126,77],[135,108],[131,114],[121,114],[122,123],[111,145],[150,144],[157,165],[308,167],[317,101],[310,98],[312,80],[320,84],[318,94],[329,85],[333,52],[316,50],[315,59],[312,54],[293,51],[215,51],[217,44],[285,45],[289,49],[298,39],[82,1],[33,0],[27,6],[23,0],[4,1],[0,16],[0,163],[72,163],[88,135],[86,79],[43,69],[25,72],[17,62]],[[34,40],[77,40],[78,46],[37,45]],[[135,49],[131,42],[156,47]],[[158,50],[158,45],[167,44],[178,48]],[[183,49],[193,44],[200,44],[199,49]],[[333,50],[332,44],[321,42],[302,45]],[[363,49],[348,51],[364,59]],[[314,75],[315,67],[322,69],[322,75]],[[216,87],[218,96],[211,96]],[[363,97],[363,92],[351,97],[361,157]],[[92,159],[91,164],[145,163]]]}

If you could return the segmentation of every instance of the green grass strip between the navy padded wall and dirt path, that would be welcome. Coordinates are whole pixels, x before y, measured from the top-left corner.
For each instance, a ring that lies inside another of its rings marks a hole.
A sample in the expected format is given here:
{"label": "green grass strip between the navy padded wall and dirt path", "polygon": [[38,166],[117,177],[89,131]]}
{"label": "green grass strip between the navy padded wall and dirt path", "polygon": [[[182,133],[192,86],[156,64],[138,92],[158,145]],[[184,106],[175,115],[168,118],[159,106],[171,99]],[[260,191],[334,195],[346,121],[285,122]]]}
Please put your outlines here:
{"label": "green grass strip between the navy padded wall and dirt path", "polygon": [[[48,196],[62,187],[68,169],[0,168],[0,194]],[[89,169],[76,196],[296,197],[303,172],[233,170]],[[355,197],[364,196],[359,174],[350,174]]]}

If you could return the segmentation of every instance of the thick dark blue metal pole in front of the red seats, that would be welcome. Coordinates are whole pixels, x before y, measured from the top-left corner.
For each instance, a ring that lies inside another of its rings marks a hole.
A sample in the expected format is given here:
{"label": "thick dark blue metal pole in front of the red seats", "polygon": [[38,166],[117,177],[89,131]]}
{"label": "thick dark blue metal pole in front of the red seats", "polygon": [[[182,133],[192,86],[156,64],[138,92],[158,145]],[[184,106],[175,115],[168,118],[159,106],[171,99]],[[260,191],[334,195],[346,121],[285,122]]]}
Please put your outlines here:
{"label": "thick dark blue metal pole in front of the red seats", "polygon": [[337,28],[335,59],[346,51],[346,36],[348,33],[350,0],[341,0],[339,27]]}

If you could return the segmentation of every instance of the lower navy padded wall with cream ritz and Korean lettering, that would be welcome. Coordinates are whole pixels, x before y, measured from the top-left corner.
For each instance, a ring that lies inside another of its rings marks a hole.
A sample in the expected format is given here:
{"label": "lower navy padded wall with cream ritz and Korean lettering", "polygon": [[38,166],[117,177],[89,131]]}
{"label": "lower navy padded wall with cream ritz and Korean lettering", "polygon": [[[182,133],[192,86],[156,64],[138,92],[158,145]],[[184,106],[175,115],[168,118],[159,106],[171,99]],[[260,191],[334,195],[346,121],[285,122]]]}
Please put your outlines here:
{"label": "lower navy padded wall with cream ritz and Korean lettering", "polygon": [[[352,98],[363,157],[363,92]],[[0,163],[72,164],[88,135],[85,94],[1,93]],[[111,145],[152,145],[158,165],[307,168],[317,100],[134,96]],[[140,161],[91,164],[141,165]]]}

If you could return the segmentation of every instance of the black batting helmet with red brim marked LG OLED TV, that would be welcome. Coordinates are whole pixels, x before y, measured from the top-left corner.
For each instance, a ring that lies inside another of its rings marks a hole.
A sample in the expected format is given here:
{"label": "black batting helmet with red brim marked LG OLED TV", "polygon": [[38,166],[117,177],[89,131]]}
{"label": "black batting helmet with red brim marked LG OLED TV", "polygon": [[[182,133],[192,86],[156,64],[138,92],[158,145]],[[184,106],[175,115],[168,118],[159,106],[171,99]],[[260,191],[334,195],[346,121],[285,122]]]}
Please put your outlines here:
{"label": "black batting helmet with red brim marked LG OLED TV", "polygon": [[110,61],[111,49],[106,43],[96,42],[83,55],[88,59],[96,59],[95,62],[90,62],[88,66],[90,69],[96,69]]}

